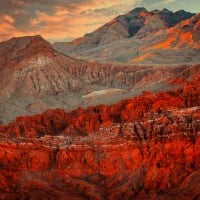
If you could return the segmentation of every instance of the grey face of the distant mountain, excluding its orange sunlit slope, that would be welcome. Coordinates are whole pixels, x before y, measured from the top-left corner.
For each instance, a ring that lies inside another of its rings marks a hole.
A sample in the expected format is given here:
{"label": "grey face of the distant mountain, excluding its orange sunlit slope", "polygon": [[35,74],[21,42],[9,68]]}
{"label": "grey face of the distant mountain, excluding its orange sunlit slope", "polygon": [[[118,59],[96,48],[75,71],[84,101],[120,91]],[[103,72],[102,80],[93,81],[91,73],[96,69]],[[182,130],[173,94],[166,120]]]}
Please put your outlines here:
{"label": "grey face of the distant mountain, excluding its orange sunlit slope", "polygon": [[[177,12],[167,9],[147,11],[145,8],[136,8],[126,15],[116,17],[82,38],[75,39],[72,42],[55,43],[54,47],[64,54],[84,60],[131,62],[132,59],[145,54],[145,49],[153,48],[154,45],[166,40],[166,37],[170,36],[168,30],[170,32],[171,28],[176,26],[177,29],[180,28],[178,24],[192,16],[194,14],[184,10]],[[192,35],[196,32],[190,31]],[[176,37],[179,36],[180,33]],[[159,50],[154,50],[155,53],[151,55],[151,57],[154,57],[153,59],[147,59],[149,56],[145,56],[145,60],[148,61],[146,63],[176,63],[176,56],[168,61],[165,59],[165,54],[172,57],[173,54],[184,54],[180,57],[186,60],[187,57],[191,56],[190,54],[194,57],[197,56],[195,52],[191,53],[192,49],[192,47],[189,48],[185,53],[179,51],[178,48],[178,51],[173,51],[171,54],[159,48]],[[178,62],[180,63],[180,61]]]}

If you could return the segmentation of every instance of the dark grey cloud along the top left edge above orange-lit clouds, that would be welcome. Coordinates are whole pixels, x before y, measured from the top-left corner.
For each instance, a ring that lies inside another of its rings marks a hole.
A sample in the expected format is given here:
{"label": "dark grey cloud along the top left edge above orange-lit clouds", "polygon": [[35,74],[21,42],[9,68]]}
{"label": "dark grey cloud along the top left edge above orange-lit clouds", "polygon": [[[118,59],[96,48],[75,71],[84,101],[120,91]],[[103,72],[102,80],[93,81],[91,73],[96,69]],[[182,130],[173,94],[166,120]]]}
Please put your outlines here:
{"label": "dark grey cloud along the top left edge above orange-lit clouds", "polygon": [[1,0],[0,15],[11,16],[15,19],[14,25],[25,31],[30,25],[30,20],[36,17],[38,11],[53,16],[55,9],[74,12],[78,7],[88,3],[90,0]]}

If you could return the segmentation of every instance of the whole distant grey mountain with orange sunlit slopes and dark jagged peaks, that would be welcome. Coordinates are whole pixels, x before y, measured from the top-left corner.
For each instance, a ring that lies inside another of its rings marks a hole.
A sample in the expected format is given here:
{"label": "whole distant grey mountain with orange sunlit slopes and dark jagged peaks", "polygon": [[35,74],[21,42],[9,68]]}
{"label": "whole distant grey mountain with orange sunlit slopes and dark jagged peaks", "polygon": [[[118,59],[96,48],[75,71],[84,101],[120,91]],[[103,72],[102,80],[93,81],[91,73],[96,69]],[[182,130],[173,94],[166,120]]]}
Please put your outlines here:
{"label": "whole distant grey mountain with orange sunlit slopes and dark jagged peaks", "polygon": [[[73,57],[98,62],[198,63],[199,21],[199,14],[184,10],[149,12],[136,8],[82,38],[55,43],[54,47]],[[166,40],[172,43],[168,44],[171,48],[163,48]]]}

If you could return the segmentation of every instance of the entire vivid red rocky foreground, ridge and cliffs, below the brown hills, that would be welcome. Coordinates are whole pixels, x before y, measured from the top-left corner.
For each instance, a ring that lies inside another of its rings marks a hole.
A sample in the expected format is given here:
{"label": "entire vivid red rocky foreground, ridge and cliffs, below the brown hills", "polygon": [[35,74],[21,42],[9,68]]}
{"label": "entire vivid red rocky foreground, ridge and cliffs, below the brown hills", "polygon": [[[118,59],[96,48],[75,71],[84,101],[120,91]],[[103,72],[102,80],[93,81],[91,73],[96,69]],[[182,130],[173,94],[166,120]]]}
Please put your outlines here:
{"label": "entire vivid red rocky foreground, ridge and cliffs, below the brown hills", "polygon": [[200,73],[189,71],[174,91],[0,126],[0,199],[199,199]]}

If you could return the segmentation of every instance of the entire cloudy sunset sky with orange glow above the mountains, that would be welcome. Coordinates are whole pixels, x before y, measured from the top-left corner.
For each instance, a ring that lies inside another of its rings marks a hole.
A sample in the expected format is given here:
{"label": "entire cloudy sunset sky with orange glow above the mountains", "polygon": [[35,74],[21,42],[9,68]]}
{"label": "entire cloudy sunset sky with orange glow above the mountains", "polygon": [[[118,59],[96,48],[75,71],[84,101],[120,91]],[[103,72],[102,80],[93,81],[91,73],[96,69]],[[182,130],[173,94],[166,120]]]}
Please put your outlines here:
{"label": "entire cloudy sunset sky with orange glow above the mountains", "polygon": [[70,41],[135,7],[200,12],[199,0],[0,0],[0,41],[25,35]]}

